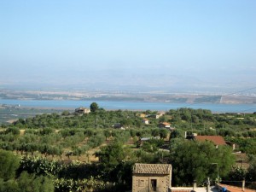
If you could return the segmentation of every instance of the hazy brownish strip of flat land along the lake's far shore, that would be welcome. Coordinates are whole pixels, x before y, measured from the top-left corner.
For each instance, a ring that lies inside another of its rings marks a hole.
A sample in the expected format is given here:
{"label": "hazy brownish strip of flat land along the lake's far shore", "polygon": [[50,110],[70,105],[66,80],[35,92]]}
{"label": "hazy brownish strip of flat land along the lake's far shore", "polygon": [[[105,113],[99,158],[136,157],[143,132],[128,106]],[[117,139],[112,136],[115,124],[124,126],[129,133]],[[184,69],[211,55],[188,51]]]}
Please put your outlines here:
{"label": "hazy brownish strip of flat land along the lake's far shore", "polygon": [[104,90],[0,90],[1,99],[15,100],[98,100],[173,103],[256,103],[256,94],[168,93],[164,91]]}

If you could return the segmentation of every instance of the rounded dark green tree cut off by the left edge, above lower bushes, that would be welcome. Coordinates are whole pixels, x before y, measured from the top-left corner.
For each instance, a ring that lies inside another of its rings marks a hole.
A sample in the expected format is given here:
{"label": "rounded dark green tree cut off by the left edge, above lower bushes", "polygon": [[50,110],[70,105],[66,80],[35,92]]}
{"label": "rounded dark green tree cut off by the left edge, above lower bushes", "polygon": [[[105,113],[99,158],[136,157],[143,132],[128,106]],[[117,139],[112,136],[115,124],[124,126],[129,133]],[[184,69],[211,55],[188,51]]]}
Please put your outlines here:
{"label": "rounded dark green tree cut off by the left edge, above lower bushes", "polygon": [[19,159],[9,151],[0,150],[0,178],[7,181],[15,177],[15,172],[19,168]]}

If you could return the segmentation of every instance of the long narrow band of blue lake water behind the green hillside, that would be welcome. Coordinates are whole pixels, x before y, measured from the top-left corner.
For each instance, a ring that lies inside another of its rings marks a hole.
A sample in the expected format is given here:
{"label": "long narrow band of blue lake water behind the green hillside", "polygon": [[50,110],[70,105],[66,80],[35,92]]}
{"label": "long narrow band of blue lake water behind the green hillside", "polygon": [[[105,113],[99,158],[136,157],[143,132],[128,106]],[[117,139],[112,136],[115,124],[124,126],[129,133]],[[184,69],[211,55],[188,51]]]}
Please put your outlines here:
{"label": "long narrow band of blue lake water behind the green hillside", "polygon": [[157,110],[168,111],[177,108],[203,108],[212,113],[253,113],[256,104],[213,104],[213,103],[170,103],[170,102],[113,102],[113,101],[55,101],[55,100],[6,100],[0,99],[0,104],[20,105],[31,108],[89,108],[91,102],[97,102],[100,108],[107,110]]}

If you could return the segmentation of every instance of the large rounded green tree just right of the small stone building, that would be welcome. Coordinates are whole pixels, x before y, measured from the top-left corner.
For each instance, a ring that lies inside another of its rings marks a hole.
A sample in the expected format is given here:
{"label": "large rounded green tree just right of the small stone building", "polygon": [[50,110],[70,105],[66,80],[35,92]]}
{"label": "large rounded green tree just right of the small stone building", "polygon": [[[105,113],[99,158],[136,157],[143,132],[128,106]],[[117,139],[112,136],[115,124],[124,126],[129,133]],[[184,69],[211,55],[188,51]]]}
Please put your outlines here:
{"label": "large rounded green tree just right of the small stone building", "polygon": [[185,141],[172,149],[171,163],[174,183],[202,183],[207,177],[226,176],[235,163],[229,147],[216,148],[210,142]]}

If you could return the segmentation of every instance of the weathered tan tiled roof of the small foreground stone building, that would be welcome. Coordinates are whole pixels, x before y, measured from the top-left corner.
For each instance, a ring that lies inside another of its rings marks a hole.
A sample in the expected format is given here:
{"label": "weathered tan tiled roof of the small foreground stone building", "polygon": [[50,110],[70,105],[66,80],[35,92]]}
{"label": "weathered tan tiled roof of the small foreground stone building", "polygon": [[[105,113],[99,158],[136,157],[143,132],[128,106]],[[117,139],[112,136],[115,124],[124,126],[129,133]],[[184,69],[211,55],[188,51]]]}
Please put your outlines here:
{"label": "weathered tan tiled roof of the small foreground stone building", "polygon": [[170,174],[172,165],[170,164],[140,164],[133,166],[133,173],[153,173],[153,174]]}

